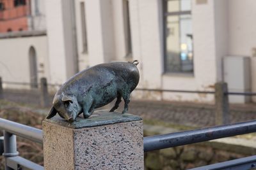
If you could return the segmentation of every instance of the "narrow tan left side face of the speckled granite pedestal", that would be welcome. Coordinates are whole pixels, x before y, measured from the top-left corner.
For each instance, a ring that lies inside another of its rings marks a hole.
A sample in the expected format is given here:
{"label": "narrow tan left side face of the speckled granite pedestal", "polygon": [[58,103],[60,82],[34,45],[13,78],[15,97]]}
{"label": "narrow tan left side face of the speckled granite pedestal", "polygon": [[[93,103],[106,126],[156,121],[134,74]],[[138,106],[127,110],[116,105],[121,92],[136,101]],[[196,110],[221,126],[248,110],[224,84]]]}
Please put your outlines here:
{"label": "narrow tan left side face of the speckled granite pedestal", "polygon": [[44,169],[74,169],[74,132],[43,122]]}

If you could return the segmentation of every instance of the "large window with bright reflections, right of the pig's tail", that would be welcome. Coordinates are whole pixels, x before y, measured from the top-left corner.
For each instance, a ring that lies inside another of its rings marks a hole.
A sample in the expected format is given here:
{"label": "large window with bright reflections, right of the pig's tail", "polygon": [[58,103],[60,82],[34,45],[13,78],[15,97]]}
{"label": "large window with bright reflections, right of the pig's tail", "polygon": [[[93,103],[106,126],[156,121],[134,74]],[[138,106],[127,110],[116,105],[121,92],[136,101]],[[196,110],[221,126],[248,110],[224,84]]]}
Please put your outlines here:
{"label": "large window with bright reflections, right of the pig's tail", "polygon": [[191,0],[164,0],[164,71],[193,73]]}

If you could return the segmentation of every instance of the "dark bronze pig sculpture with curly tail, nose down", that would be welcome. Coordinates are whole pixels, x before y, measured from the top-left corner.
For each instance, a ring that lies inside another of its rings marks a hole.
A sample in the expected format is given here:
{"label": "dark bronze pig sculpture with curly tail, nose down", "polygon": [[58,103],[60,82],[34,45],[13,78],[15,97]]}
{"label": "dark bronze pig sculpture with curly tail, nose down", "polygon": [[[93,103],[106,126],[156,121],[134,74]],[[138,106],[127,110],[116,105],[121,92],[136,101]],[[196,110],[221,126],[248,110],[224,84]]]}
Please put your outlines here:
{"label": "dark bronze pig sculpture with curly tail, nose down", "polygon": [[111,62],[75,74],[56,92],[46,118],[58,113],[68,122],[74,122],[81,113],[88,118],[95,108],[109,104],[116,98],[115,106],[110,110],[112,112],[118,108],[121,97],[125,103],[122,113],[127,112],[130,94],[140,80],[138,64],[138,60]]}

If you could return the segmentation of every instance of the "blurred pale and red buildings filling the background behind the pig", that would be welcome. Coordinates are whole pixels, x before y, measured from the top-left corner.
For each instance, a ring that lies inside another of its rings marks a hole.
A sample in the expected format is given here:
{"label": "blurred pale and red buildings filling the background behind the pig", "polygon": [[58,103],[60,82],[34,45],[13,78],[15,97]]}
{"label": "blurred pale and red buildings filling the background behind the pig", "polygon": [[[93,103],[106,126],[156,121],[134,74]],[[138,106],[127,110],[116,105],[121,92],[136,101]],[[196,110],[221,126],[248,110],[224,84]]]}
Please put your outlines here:
{"label": "blurred pale and red buildings filling the background behind the pig", "polygon": [[[227,81],[229,90],[255,91],[255,8],[253,0],[0,0],[0,76],[60,84],[95,64],[137,59],[139,87],[146,89],[214,90]],[[135,94],[214,101],[205,94]]]}

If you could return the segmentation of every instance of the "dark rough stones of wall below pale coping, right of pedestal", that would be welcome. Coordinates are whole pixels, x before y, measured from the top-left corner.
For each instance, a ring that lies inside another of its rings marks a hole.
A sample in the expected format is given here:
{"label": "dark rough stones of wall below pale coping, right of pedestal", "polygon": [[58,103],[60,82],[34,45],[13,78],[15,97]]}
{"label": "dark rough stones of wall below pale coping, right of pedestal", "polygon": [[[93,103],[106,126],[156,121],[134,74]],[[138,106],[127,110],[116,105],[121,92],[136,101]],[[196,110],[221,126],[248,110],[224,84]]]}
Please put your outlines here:
{"label": "dark rough stones of wall below pale coping, right of pedestal", "polygon": [[145,153],[145,170],[181,170],[250,156],[212,146],[186,145]]}

